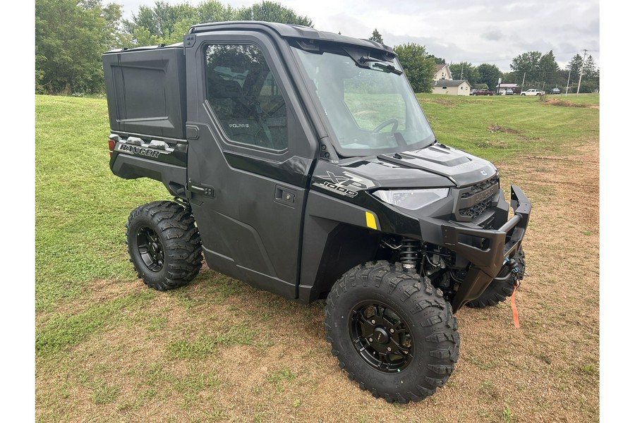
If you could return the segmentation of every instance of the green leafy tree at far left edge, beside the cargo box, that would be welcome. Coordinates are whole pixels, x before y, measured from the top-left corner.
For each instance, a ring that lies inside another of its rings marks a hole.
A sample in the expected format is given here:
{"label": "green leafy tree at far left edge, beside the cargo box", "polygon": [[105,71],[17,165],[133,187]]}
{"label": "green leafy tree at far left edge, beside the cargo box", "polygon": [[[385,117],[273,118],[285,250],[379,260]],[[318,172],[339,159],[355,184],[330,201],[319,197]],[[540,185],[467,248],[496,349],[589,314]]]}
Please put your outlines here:
{"label": "green leafy tree at far left edge, beside the cargo box", "polygon": [[35,1],[35,90],[103,90],[102,53],[120,47],[121,6],[101,0]]}

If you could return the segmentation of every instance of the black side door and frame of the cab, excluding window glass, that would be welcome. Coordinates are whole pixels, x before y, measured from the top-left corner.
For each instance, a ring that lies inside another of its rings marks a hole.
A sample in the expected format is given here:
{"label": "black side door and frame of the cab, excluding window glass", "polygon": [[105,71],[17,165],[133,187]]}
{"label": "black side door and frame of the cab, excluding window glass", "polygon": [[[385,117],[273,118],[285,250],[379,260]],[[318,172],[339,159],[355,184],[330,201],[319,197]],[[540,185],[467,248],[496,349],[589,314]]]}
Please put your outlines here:
{"label": "black side door and frame of the cab, excluding window glass", "polygon": [[[318,140],[277,44],[284,41],[265,31],[232,29],[196,35],[185,49],[190,204],[211,269],[296,299]],[[262,51],[286,104],[288,147],[265,149],[229,138],[207,98],[210,44],[250,44]],[[213,197],[198,188],[213,190]]]}

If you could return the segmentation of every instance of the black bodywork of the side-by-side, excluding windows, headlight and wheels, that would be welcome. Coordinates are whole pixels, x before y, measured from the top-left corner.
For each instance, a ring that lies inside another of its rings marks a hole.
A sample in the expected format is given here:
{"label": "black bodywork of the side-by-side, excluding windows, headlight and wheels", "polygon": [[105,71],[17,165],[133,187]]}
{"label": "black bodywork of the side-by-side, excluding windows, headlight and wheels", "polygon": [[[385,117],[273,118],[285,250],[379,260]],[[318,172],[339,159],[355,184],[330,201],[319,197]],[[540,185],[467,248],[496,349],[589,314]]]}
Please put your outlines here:
{"label": "black bodywork of the side-by-side, excluding windows, headlight and wheels", "polygon": [[[111,131],[123,137],[112,152],[112,171],[160,180],[187,200],[210,268],[300,302],[323,298],[345,271],[377,259],[387,236],[447,247],[469,266],[454,295],[456,311],[478,298],[519,250],[531,203],[512,186],[515,216],[507,221],[495,166],[439,143],[380,157],[338,157],[325,112],[289,45],[312,40],[394,55],[370,40],[255,22],[196,25],[184,45],[104,54]],[[206,96],[210,44],[262,50],[287,107],[286,149],[250,147],[226,135]],[[131,135],[139,139],[129,141]],[[425,188],[451,193],[417,210],[373,195]],[[479,219],[486,225],[458,214],[483,202],[488,209]]]}

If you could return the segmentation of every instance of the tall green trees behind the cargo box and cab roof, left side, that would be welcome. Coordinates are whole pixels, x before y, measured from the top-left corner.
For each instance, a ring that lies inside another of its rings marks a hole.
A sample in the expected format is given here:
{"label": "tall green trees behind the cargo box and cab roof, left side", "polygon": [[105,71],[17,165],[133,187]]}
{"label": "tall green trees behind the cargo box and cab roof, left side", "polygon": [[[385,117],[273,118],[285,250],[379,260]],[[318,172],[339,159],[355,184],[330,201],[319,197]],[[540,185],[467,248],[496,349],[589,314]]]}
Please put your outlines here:
{"label": "tall green trees behind the cargo box and cab roof, left side", "polygon": [[306,16],[274,1],[242,8],[217,0],[198,6],[155,1],[123,19],[120,4],[102,0],[35,0],[35,92],[103,92],[105,51],[182,42],[192,25],[223,20],[313,26]]}

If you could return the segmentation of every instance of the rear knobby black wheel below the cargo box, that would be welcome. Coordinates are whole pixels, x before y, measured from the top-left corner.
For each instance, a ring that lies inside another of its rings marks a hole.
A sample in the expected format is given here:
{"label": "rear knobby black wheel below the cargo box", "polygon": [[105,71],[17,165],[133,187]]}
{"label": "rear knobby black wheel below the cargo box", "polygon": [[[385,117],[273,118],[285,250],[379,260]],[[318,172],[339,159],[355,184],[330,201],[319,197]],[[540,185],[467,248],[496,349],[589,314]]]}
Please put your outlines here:
{"label": "rear knobby black wheel below the cargo box", "polygon": [[190,212],[176,202],[151,202],[131,212],[126,223],[130,261],[156,290],[179,288],[200,271],[202,248]]}

